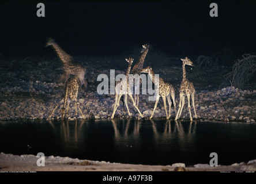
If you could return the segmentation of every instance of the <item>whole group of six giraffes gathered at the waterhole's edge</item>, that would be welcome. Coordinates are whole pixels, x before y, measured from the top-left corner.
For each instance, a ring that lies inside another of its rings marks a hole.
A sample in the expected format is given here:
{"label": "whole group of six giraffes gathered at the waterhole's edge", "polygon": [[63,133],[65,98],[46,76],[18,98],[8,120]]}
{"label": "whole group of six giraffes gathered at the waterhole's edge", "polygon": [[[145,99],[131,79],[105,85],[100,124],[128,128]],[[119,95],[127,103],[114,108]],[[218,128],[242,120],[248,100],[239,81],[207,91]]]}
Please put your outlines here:
{"label": "whole group of six giraffes gathered at the waterhole's edge", "polygon": [[[55,52],[59,56],[59,59],[61,59],[61,61],[63,62],[63,70],[65,71],[65,74],[66,74],[66,77],[65,77],[66,82],[65,82],[65,98],[62,99],[55,106],[54,110],[52,111],[50,116],[47,118],[47,120],[51,118],[55,109],[57,109],[57,107],[61,103],[63,103],[63,108],[61,108],[61,118],[62,119],[65,118],[69,111],[69,101],[68,101],[69,98],[75,102],[75,107],[76,107],[75,110],[76,110],[76,116],[77,116],[77,106],[80,105],[77,101],[78,89],[82,85],[85,85],[85,86],[87,85],[87,82],[85,80],[86,68],[84,66],[82,66],[81,64],[76,64],[73,60],[73,57],[71,57],[69,54],[67,54],[65,51],[63,51],[63,49],[61,47],[59,47],[59,45],[53,39],[48,39],[48,41],[46,43],[46,47],[49,45],[52,46],[52,48],[55,50]],[[129,86],[129,74],[133,74],[133,76],[134,76],[133,79],[137,78],[139,80],[139,82],[141,83],[141,81],[140,81],[141,73],[147,73],[147,74],[149,74],[150,78],[152,79],[152,82],[155,83],[155,85],[157,87],[157,91],[158,91],[157,96],[156,96],[155,107],[154,107],[153,112],[149,119],[152,119],[153,114],[155,113],[157,104],[159,102],[159,98],[162,97],[163,101],[164,101],[164,109],[165,109],[167,120],[171,117],[171,105],[172,105],[171,98],[172,98],[172,101],[174,103],[174,108],[175,108],[175,120],[178,120],[178,118],[180,118],[180,115],[182,113],[182,109],[185,105],[185,96],[187,96],[190,120],[193,121],[193,118],[191,116],[191,110],[190,110],[191,109],[190,97],[192,99],[192,104],[193,104],[193,108],[194,108],[194,112],[195,112],[195,103],[194,103],[195,88],[194,88],[193,83],[191,83],[187,80],[186,68],[185,68],[186,65],[194,66],[193,62],[191,62],[191,60],[187,57],[185,57],[185,59],[181,59],[183,62],[182,63],[183,78],[182,78],[182,82],[180,84],[180,90],[179,90],[179,97],[180,97],[179,109],[178,109],[178,113],[176,113],[174,86],[172,86],[170,83],[164,82],[164,80],[162,78],[155,76],[155,73],[153,72],[152,68],[150,68],[149,66],[146,68],[143,68],[145,57],[148,53],[148,49],[149,49],[148,44],[142,45],[140,59],[139,59],[138,63],[134,65],[134,67],[132,69],[131,69],[131,66],[132,66],[134,59],[133,58],[126,59],[126,62],[128,62],[128,68],[127,68],[126,74],[125,74],[126,80],[117,81],[115,84],[115,104],[114,104],[114,111],[112,113],[111,119],[114,118],[116,109],[119,106],[119,102],[120,102],[122,95],[124,95],[123,101],[124,101],[124,104],[126,105],[129,116],[131,116],[132,114],[130,113],[128,105],[127,105],[127,95],[130,96],[131,101],[133,102],[133,105],[134,105],[135,109],[137,109],[140,116],[144,117],[141,114],[140,109],[138,108],[139,97],[140,97],[139,93],[134,93],[134,99],[133,99],[133,95],[131,93],[131,89]],[[157,80],[157,82],[156,82],[156,80]],[[135,91],[140,90],[140,89],[137,89],[138,87],[140,87],[140,85],[138,85],[138,86],[134,85],[134,90]],[[169,113],[167,113],[166,98],[167,98],[168,105],[169,105]],[[78,106],[78,109],[80,110],[80,112],[82,114],[82,110],[80,109],[80,106]],[[82,114],[82,118],[85,119],[84,114]],[[195,118],[197,118],[196,112],[195,112]]]}

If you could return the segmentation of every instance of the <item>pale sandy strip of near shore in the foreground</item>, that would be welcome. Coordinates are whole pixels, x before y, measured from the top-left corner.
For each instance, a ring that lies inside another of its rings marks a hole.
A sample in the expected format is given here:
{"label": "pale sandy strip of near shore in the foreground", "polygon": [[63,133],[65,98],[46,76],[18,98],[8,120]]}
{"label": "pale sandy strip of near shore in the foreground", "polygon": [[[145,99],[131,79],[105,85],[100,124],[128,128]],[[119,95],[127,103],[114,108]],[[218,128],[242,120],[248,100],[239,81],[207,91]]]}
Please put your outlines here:
{"label": "pale sandy strip of near shore in the foreground", "polygon": [[1,152],[0,173],[9,171],[246,171],[254,173],[256,171],[256,160],[250,160],[247,163],[234,163],[231,166],[219,165],[214,167],[209,164],[185,166],[184,163],[153,166],[46,156],[44,158],[44,167],[39,167],[36,164],[38,159],[39,157],[36,155],[13,155]]}

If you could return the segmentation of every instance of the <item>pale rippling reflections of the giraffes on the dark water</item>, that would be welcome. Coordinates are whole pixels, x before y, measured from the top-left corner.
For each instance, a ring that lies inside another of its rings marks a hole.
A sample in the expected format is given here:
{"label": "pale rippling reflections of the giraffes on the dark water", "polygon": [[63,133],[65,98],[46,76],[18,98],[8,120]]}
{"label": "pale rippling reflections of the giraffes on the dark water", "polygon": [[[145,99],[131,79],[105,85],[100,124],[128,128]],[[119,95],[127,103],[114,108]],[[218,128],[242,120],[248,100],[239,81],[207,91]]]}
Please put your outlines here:
{"label": "pale rippling reflections of the giraffes on the dark water", "polygon": [[[143,128],[145,128],[148,133],[152,132],[152,139],[155,141],[155,144],[160,144],[162,141],[171,141],[172,139],[179,141],[182,145],[187,143],[191,144],[191,141],[194,140],[197,125],[197,122],[190,122],[188,127],[186,122],[171,120],[163,120],[160,123],[154,120],[134,121],[130,119],[110,121],[106,120],[104,124],[105,126],[112,125],[115,137],[114,140],[116,143],[121,144],[127,142],[131,137],[133,140],[140,139],[140,131]],[[55,136],[61,138],[61,141],[65,143],[78,143],[78,141],[81,141],[81,137],[86,136],[85,129],[92,128],[90,124],[95,124],[97,121],[90,123],[86,120],[61,120],[57,122],[49,120],[48,123],[51,125]]]}

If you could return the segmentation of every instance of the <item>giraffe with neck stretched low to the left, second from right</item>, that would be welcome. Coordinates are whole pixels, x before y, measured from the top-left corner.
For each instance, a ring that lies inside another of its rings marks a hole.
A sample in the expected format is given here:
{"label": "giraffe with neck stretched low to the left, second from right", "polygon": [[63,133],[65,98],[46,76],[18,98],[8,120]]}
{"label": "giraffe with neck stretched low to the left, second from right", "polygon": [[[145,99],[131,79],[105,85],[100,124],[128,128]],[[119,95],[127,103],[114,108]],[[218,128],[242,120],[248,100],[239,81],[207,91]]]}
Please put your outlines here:
{"label": "giraffe with neck stretched low to the left, second from right", "polygon": [[[155,83],[155,85],[157,87],[156,104],[155,104],[155,107],[154,107],[153,112],[149,119],[152,119],[153,114],[155,113],[159,98],[162,97],[163,101],[164,101],[164,109],[165,109],[165,113],[166,113],[166,119],[168,120],[171,117],[172,102],[171,102],[170,96],[172,97],[172,101],[174,102],[174,109],[175,109],[175,114],[176,114],[174,86],[172,86],[170,83],[164,82],[164,80],[162,78],[158,78],[157,76],[155,76],[155,73],[153,72],[152,68],[150,68],[149,66],[142,69],[141,72],[149,74],[152,82]],[[167,98],[167,101],[169,104],[169,114],[167,114],[166,98]]]}

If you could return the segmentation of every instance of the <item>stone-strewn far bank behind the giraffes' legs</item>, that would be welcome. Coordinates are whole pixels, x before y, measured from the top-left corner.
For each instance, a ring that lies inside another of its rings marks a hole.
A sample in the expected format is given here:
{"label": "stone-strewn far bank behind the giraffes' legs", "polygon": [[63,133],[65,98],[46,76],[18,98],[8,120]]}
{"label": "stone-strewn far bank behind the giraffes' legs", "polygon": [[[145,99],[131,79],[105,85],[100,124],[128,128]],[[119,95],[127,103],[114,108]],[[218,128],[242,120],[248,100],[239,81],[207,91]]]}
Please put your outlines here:
{"label": "stone-strewn far bank behind the giraffes' legs", "polygon": [[[34,83],[14,87],[1,87],[0,89],[0,120],[42,120],[46,119],[55,105],[61,101],[63,83],[46,83],[36,81]],[[179,97],[176,94],[176,110],[178,110]],[[140,110],[145,118],[152,113],[155,101],[148,101],[149,95],[140,95]],[[129,98],[128,98],[129,99]],[[86,119],[106,119],[112,114],[115,95],[99,95],[97,91],[84,91],[81,89],[78,95],[82,112]],[[256,90],[239,90],[235,87],[225,87],[220,90],[201,90],[195,94],[195,108],[198,120],[201,121],[239,121],[255,122],[256,120]],[[82,118],[74,116],[74,104],[70,103],[70,118]],[[129,109],[134,118],[140,118],[135,112],[129,99]],[[171,119],[175,117],[172,107]],[[56,110],[52,117],[60,118],[60,110]],[[192,113],[193,114],[193,113]],[[194,115],[194,114],[193,114]],[[129,118],[127,110],[123,112],[122,102],[115,114],[118,118]],[[165,118],[163,101],[160,99],[153,118]],[[189,111],[185,104],[182,117],[188,119]],[[194,118],[194,116],[193,116]],[[194,119],[195,120],[195,119]]]}

